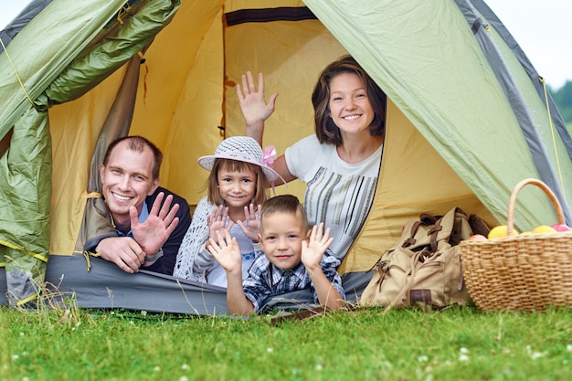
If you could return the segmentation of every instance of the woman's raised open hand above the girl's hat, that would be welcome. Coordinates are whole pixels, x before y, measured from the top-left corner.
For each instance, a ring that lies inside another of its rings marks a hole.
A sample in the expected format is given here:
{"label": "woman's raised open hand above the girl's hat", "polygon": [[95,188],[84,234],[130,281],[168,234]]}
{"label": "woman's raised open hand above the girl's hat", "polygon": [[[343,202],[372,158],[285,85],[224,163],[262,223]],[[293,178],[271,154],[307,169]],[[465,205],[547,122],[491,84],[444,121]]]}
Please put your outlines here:
{"label": "woman's raised open hand above the girl's hat", "polygon": [[278,93],[270,95],[268,103],[264,99],[264,76],[259,73],[259,90],[256,90],[252,73],[242,75],[242,87],[237,84],[238,103],[247,124],[266,121],[274,112],[274,102]]}

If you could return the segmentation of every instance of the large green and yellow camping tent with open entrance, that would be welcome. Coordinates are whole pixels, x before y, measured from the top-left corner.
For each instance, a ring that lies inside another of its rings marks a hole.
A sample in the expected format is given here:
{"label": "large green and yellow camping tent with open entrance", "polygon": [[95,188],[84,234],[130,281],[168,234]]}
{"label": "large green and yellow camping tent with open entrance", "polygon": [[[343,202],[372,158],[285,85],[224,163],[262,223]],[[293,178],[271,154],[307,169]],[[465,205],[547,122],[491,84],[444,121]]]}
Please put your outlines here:
{"label": "large green and yellow camping tent with open entrance", "polygon": [[[196,159],[243,133],[240,74],[263,72],[267,95],[280,93],[264,144],[283,153],[313,132],[312,86],[345,53],[389,101],[374,205],[342,274],[371,269],[421,213],[461,206],[505,223],[528,177],[572,222],[570,134],[480,0],[35,0],[0,37],[3,303],[25,305],[47,282],[81,307],[226,313],[224,290],[81,252],[101,201],[93,169],[115,136],[142,134],[164,151],[161,185],[195,205],[207,178]],[[301,184],[277,191],[303,196]],[[556,222],[554,209],[525,189],[515,226]]]}

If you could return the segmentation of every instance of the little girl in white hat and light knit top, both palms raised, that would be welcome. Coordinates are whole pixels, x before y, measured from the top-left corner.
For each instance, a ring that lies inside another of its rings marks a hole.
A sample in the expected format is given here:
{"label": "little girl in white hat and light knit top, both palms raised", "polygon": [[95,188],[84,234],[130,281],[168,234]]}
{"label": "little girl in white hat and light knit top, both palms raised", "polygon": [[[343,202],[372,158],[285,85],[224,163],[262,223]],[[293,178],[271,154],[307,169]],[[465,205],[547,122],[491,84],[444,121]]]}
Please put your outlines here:
{"label": "little girl in white hat and light knit top, both palms raised", "polygon": [[268,198],[269,185],[279,175],[266,163],[260,144],[247,136],[225,139],[214,155],[198,164],[210,172],[207,196],[196,206],[191,226],[179,248],[173,275],[227,287],[226,271],[206,248],[208,238],[217,241],[217,231],[228,229],[242,254],[242,278],[260,253],[258,234],[260,208]]}

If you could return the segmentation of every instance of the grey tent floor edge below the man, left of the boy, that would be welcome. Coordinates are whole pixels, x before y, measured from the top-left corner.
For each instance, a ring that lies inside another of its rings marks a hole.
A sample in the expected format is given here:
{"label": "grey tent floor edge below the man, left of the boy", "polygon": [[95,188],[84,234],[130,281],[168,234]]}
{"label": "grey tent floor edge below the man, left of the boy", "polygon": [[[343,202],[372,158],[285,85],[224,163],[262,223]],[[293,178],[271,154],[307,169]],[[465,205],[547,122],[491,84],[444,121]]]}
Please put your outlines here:
{"label": "grey tent floor edge below the man, left of the boy", "polygon": [[226,291],[220,287],[139,271],[128,274],[105,259],[83,255],[50,256],[46,282],[81,308],[198,315],[228,315]]}

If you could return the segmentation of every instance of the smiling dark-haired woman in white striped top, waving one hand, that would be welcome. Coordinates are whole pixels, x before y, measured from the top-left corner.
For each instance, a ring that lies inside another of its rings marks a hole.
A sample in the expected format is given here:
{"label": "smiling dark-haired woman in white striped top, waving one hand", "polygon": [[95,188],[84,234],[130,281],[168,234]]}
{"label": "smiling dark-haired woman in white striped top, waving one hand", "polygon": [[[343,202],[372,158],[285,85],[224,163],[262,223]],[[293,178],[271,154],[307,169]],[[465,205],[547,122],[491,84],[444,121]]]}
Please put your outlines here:
{"label": "smiling dark-haired woman in white striped top, waving one hand", "polygon": [[[250,72],[242,76],[237,91],[246,134],[261,143],[277,94],[267,103],[262,74],[255,90]],[[386,104],[386,94],[354,58],[335,60],[323,69],[312,92],[315,134],[287,148],[273,165],[287,182],[298,178],[306,183],[308,220],[331,228],[330,249],[340,259],[362,228],[375,195]],[[360,278],[359,283],[369,280]]]}

